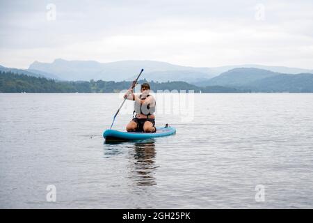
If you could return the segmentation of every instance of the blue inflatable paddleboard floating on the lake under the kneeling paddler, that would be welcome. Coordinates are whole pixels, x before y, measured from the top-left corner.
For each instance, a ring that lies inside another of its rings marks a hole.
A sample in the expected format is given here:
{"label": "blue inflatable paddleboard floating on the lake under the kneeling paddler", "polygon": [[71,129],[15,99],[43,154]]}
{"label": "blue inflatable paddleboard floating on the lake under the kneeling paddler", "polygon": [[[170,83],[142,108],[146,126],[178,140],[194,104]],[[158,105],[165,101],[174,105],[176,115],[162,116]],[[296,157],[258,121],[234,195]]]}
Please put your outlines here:
{"label": "blue inflatable paddleboard floating on the lake under the kneeling paddler", "polygon": [[173,127],[159,127],[157,132],[121,132],[118,130],[105,130],[103,133],[104,139],[108,141],[115,140],[141,140],[141,139],[151,139],[155,137],[166,137],[170,134],[175,134],[176,129]]}

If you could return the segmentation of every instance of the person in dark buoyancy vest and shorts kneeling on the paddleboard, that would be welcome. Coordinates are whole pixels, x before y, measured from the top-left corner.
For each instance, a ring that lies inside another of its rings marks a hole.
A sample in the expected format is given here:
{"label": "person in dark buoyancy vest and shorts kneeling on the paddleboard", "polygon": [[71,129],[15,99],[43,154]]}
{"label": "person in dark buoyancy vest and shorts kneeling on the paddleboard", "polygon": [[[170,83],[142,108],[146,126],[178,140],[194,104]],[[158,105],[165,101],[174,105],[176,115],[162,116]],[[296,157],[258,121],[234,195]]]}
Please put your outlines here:
{"label": "person in dark buoyancy vest and shorts kneeling on the paddleboard", "polygon": [[[149,94],[150,85],[147,83],[141,84],[141,95],[135,95],[133,88],[125,93],[127,100],[135,101],[135,110],[133,119],[126,126],[127,132],[156,132],[157,128],[154,127],[154,112],[156,102],[154,97]],[[128,97],[127,97],[128,95]]]}

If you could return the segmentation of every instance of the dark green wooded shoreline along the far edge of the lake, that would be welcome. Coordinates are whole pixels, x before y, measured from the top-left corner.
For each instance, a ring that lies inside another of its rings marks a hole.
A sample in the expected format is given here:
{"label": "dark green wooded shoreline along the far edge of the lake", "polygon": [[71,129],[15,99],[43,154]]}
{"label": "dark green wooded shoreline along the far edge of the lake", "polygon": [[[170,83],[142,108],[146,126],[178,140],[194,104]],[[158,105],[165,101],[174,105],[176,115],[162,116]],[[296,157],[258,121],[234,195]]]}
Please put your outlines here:
{"label": "dark green wooded shoreline along the far edge of the lake", "polygon": [[[147,82],[145,79],[139,84]],[[193,90],[195,93],[243,92],[223,86],[199,87],[186,82],[149,82],[152,91],[158,90]],[[45,77],[33,77],[14,72],[0,72],[0,93],[114,93],[129,89],[131,82],[113,82],[103,80],[86,81],[58,81]]]}

